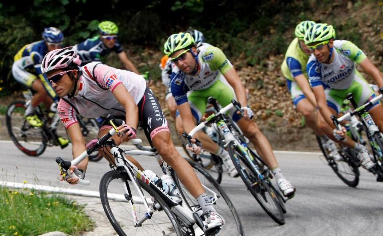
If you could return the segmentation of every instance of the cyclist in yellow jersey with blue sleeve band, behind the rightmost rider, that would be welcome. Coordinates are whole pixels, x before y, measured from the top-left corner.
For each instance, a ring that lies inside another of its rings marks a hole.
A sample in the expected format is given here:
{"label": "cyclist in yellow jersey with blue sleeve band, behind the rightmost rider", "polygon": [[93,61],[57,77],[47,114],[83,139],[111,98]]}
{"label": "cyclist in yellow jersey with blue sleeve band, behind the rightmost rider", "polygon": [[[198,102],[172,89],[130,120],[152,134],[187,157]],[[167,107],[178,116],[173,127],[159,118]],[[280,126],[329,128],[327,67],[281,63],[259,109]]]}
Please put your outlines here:
{"label": "cyclist in yellow jersey with blue sleeve band, behind the rightmost rider", "polygon": [[320,113],[316,112],[318,106],[306,73],[306,64],[311,50],[304,44],[303,38],[304,33],[314,24],[314,21],[306,20],[295,27],[296,38],[288,46],[281,70],[286,78],[287,87],[297,111],[304,116],[308,127],[313,129],[318,137],[321,137],[329,156],[335,160],[340,160],[342,157],[339,155],[334,141],[324,135],[318,127],[317,116],[320,116]]}

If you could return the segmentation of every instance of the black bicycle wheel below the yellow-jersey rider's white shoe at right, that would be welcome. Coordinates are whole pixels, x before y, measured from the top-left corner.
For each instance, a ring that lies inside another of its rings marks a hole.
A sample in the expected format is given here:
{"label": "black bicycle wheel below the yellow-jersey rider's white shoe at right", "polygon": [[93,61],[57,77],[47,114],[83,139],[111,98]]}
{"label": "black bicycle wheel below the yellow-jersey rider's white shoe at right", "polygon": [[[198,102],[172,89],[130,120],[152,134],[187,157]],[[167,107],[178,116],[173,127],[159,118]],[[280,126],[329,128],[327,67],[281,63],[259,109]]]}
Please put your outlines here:
{"label": "black bicycle wheel below the yellow-jersey rider's white shoe at right", "polygon": [[335,172],[335,174],[342,180],[345,184],[350,187],[356,187],[359,184],[359,169],[358,165],[354,163],[352,154],[347,153],[345,151],[341,151],[340,155],[342,155],[341,161],[335,161],[328,154],[322,145],[321,138],[316,137],[319,148],[321,149],[324,158],[326,158],[327,163],[331,167],[331,169]]}

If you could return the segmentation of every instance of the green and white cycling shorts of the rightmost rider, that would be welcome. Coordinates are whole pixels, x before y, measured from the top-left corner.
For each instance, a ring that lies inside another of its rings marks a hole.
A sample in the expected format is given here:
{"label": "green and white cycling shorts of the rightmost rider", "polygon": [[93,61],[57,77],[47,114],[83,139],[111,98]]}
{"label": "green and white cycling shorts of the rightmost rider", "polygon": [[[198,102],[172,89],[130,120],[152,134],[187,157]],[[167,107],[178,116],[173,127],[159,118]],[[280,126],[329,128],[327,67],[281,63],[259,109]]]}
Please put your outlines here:
{"label": "green and white cycling shorts of the rightmost rider", "polygon": [[[346,99],[347,94],[349,93],[351,93],[354,97],[354,101],[358,107],[367,103],[376,96],[370,85],[359,73],[355,74],[354,81],[352,81],[352,84],[349,88],[345,90],[325,88],[324,93],[326,94],[327,106],[334,109],[337,113],[341,111],[343,101]],[[372,107],[376,106],[377,104],[379,104],[379,102],[376,102]],[[372,107],[370,107],[370,109]]]}

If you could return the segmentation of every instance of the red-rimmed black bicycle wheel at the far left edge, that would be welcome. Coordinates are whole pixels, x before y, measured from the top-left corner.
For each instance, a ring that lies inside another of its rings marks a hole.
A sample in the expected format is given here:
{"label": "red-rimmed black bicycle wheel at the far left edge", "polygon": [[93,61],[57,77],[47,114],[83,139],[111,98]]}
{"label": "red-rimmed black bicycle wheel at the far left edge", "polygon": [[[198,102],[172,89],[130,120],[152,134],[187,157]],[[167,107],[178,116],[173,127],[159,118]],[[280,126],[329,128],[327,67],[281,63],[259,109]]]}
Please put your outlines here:
{"label": "red-rimmed black bicycle wheel at the far left edge", "polygon": [[8,134],[16,147],[28,156],[39,156],[46,148],[41,127],[32,127],[25,119],[25,101],[14,101],[7,109]]}

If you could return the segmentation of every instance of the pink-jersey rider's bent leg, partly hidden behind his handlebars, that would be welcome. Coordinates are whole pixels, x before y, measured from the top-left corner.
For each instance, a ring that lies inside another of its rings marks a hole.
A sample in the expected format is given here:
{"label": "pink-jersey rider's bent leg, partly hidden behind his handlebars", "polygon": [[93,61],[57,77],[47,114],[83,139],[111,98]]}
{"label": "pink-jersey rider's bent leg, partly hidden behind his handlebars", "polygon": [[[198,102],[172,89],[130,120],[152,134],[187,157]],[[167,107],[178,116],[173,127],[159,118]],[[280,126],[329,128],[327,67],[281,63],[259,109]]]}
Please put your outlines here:
{"label": "pink-jersey rider's bent leg, partly hidden behind his handlebars", "polygon": [[[122,120],[125,120],[126,117],[115,117],[116,119],[122,119]],[[109,122],[107,120],[104,120],[104,122],[101,124],[101,128],[100,128],[100,131],[98,132],[98,135],[97,135],[97,138],[100,138],[102,136],[104,136],[106,133],[109,132],[109,130],[113,128]],[[120,137],[117,136],[117,134],[113,135],[112,136],[112,139],[115,141],[116,145],[120,145],[122,143],[122,139]],[[102,156],[109,161],[109,163],[113,164],[114,166],[116,165],[115,163],[115,160],[113,158],[113,156],[110,154],[110,147],[106,147],[106,148],[102,148],[100,149],[100,152],[102,154]],[[129,161],[131,161],[135,166],[137,166],[138,169],[140,169],[141,171],[144,170],[144,168],[142,168],[141,164],[138,163],[138,161],[136,159],[134,159],[133,157],[131,156],[128,156],[126,155],[125,156]]]}

